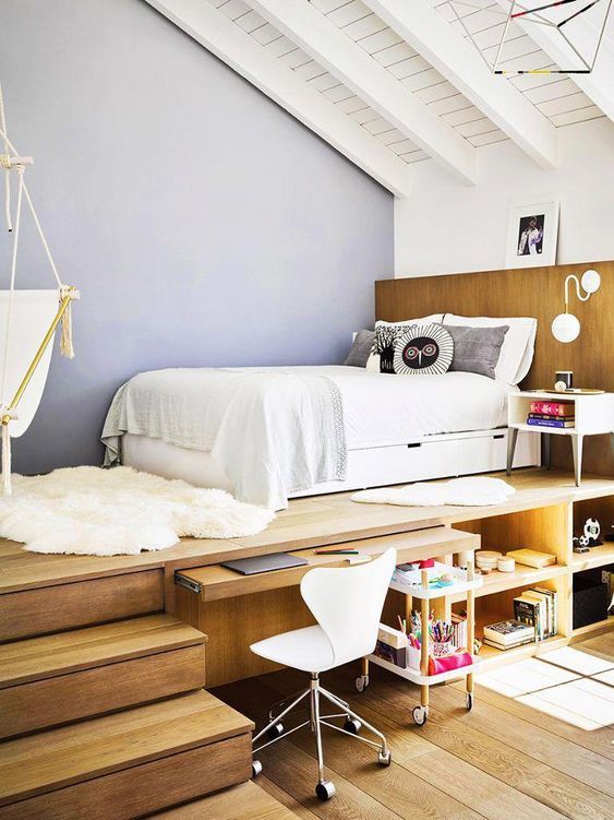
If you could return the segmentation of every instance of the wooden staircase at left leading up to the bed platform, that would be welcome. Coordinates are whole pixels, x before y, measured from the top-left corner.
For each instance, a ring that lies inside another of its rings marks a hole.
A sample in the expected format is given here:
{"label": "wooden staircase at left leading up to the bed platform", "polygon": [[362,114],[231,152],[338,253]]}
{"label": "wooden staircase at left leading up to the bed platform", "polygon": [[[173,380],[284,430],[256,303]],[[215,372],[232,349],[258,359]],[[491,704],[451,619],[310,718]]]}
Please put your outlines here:
{"label": "wooden staircase at left leading up to the bed platform", "polygon": [[58,587],[2,596],[0,820],[128,820],[250,779],[253,723],[203,689],[206,637],[146,614],[147,575],[141,613],[125,575],[62,585],[69,611]]}

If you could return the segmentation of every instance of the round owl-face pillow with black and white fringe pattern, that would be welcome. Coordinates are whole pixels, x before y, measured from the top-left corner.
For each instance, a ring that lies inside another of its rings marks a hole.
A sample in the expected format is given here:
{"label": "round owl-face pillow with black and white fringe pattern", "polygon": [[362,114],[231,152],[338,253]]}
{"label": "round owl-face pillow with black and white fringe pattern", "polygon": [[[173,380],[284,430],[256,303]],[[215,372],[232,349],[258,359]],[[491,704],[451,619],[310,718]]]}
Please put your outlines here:
{"label": "round owl-face pillow with black and white fringe pattern", "polygon": [[395,373],[437,376],[449,370],[454,340],[441,324],[417,324],[395,342]]}

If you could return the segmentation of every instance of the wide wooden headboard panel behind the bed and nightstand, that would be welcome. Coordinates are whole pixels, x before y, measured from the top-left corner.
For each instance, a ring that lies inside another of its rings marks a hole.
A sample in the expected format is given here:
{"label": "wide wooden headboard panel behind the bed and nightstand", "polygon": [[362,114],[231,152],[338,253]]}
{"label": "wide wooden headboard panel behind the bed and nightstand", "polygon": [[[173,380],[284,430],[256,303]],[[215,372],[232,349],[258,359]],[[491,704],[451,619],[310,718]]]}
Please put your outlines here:
{"label": "wide wooden headboard panel behind the bed and nightstand", "polygon": [[[579,276],[589,268],[601,274],[601,288],[588,302],[570,289],[569,310],[581,322],[578,340],[557,342],[550,331],[563,312],[563,285],[569,273]],[[535,356],[520,387],[552,387],[555,370],[574,370],[576,387],[614,392],[614,262],[582,262],[553,268],[485,271],[445,276],[385,280],[375,283],[375,316],[398,322],[429,313],[514,317],[538,319]],[[556,439],[553,461],[569,466],[569,442]],[[561,437],[563,439],[564,437]],[[585,439],[585,470],[614,475],[612,437]]]}

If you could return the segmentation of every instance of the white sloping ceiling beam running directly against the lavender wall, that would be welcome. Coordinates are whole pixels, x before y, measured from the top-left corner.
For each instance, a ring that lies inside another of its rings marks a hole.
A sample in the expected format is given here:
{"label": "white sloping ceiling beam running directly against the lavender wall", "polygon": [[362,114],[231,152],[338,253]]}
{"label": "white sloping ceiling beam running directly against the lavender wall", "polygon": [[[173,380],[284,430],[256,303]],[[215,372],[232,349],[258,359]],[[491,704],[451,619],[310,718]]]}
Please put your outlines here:
{"label": "white sloping ceiling beam running directly against the lavender wall", "polygon": [[397,197],[407,164],[205,0],[147,0],[179,28]]}

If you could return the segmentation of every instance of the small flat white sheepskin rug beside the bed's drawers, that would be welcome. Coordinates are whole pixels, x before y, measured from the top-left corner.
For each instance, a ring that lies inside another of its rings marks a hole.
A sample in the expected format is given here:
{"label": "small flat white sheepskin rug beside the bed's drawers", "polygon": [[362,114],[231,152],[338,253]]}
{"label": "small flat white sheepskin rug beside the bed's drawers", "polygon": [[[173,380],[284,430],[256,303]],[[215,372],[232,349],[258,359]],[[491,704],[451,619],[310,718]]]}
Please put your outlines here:
{"label": "small flat white sheepskin rug beside the bed's drawers", "polygon": [[383,487],[354,492],[352,501],[362,504],[396,504],[397,507],[490,507],[501,504],[516,492],[501,478],[453,478],[440,484],[408,484],[407,487]]}

